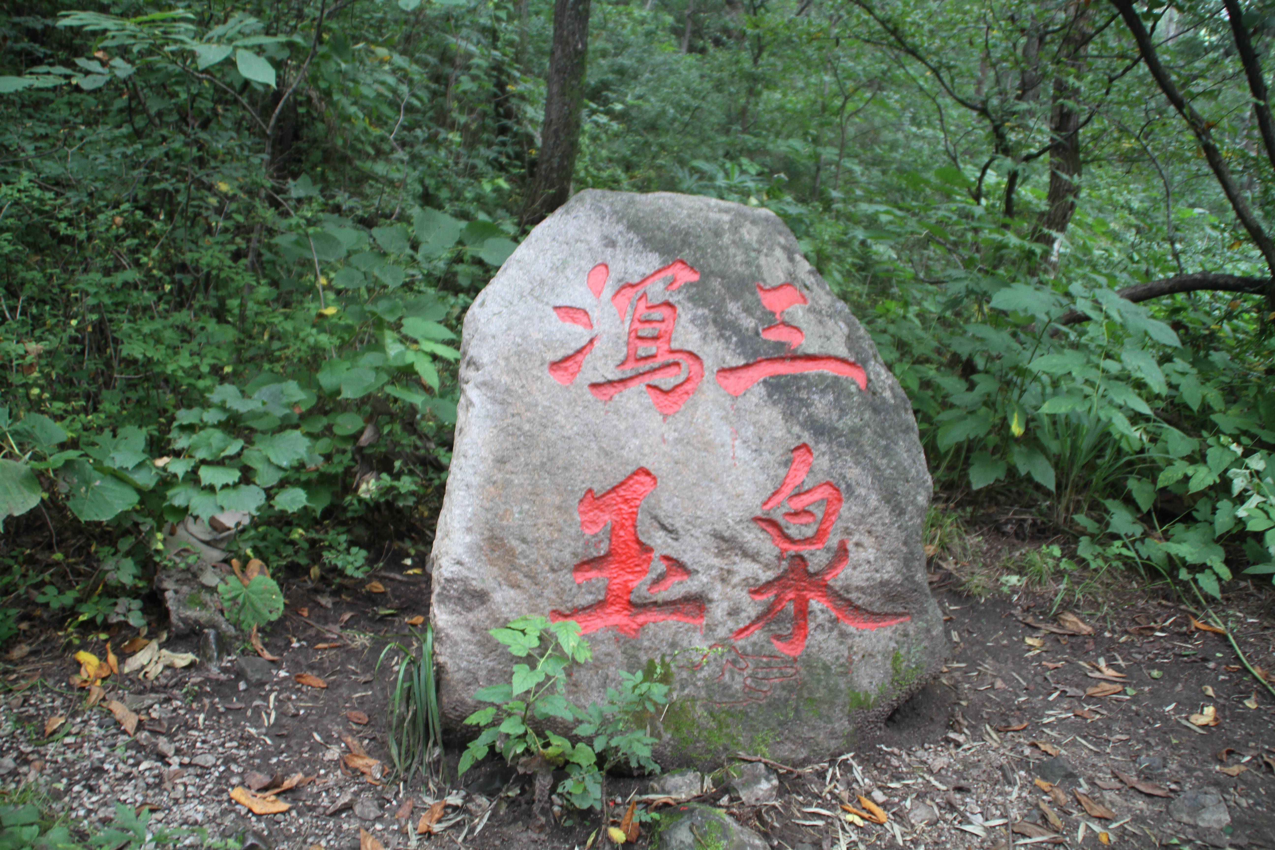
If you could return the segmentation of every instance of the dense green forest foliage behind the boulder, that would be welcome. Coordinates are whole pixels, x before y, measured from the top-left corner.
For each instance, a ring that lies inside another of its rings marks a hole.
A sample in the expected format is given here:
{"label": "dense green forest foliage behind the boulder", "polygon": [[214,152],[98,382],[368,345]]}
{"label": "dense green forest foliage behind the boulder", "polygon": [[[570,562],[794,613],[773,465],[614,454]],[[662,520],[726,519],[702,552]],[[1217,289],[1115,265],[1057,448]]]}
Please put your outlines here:
{"label": "dense green forest foliage behind the boulder", "polygon": [[[249,512],[247,554],[314,575],[430,539],[552,22],[0,13],[0,640],[32,601],[136,623],[187,516]],[[771,209],[945,502],[1218,596],[1275,573],[1272,41],[1238,0],[595,3],[574,186]]]}

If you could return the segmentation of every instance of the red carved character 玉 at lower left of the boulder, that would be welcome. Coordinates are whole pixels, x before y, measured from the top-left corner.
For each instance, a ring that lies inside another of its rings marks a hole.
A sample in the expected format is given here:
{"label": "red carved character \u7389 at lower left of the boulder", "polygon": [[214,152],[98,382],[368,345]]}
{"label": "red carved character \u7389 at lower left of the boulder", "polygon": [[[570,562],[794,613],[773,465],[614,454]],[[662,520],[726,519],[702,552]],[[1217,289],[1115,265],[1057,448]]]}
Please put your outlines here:
{"label": "red carved character \u7389 at lower left of the boulder", "polygon": [[[575,565],[576,584],[606,579],[603,598],[575,610],[550,613],[555,622],[574,619],[584,633],[601,628],[615,628],[621,635],[638,637],[643,626],[663,621],[704,624],[704,601],[695,596],[681,596],[671,601],[635,603],[634,590],[646,579],[654,549],[638,537],[638,511],[655,484],[655,475],[638,468],[622,482],[595,496],[590,489],[580,500],[580,528],[585,534],[597,534],[611,524],[607,552]],[[671,585],[690,577],[686,567],[668,556],[660,556],[664,575],[650,585],[650,593],[660,593]]]}

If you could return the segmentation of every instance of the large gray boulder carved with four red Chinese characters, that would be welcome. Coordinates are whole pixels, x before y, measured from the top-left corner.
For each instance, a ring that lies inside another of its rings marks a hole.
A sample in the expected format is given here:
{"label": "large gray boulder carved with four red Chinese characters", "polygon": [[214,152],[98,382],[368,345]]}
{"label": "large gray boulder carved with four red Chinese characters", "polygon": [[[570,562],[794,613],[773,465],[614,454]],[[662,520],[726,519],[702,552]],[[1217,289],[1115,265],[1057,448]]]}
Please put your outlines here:
{"label": "large gray boulder carved with four red Chinese characters", "polygon": [[765,209],[584,191],[465,317],[431,563],[445,723],[487,630],[572,618],[567,696],[645,670],[664,767],[844,752],[946,654],[908,398]]}

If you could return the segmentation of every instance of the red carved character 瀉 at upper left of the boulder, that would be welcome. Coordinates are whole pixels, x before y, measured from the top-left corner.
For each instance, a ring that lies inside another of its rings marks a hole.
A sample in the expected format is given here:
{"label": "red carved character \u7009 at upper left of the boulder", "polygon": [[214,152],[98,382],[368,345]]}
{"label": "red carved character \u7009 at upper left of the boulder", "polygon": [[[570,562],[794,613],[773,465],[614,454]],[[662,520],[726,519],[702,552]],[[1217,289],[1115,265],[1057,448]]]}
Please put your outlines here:
{"label": "red carved character \u7009 at upper left of the boulder", "polygon": [[[609,269],[601,263],[589,271],[589,289],[593,291],[595,298],[602,297],[608,274]],[[694,352],[673,348],[677,307],[668,301],[650,303],[646,298],[645,291],[652,284],[667,278],[672,278],[672,280],[664,287],[664,292],[673,292],[683,283],[699,280],[700,273],[685,260],[674,260],[638,283],[623,284],[611,297],[611,303],[615,306],[620,321],[629,321],[627,350],[625,359],[618,363],[618,368],[621,371],[638,368],[644,371],[612,381],[590,384],[589,391],[598,399],[609,401],[620,393],[645,384],[646,394],[650,395],[655,409],[664,415],[672,415],[682,409],[686,400],[699,387],[700,381],[704,380],[704,361]],[[579,307],[555,307],[553,312],[560,321],[593,330],[593,320],[589,313]],[[597,342],[598,338],[594,335],[575,352],[550,363],[550,375],[553,376],[553,380],[564,386],[575,381]],[[682,377],[683,370],[685,377]],[[668,389],[654,384],[654,381],[669,377],[682,377],[682,380]]]}

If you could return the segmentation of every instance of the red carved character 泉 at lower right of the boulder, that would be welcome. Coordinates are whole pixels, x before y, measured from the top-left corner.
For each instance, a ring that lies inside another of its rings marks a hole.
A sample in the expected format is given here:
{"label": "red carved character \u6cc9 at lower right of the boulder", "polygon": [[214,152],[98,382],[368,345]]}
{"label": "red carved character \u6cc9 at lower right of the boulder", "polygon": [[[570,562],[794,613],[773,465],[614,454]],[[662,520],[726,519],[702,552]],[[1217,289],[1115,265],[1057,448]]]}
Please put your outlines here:
{"label": "red carved character \u6cc9 at lower right of the boulder", "polygon": [[[737,641],[752,635],[775,619],[790,604],[793,607],[792,630],[787,635],[771,635],[770,642],[775,645],[776,650],[793,658],[801,655],[802,650],[806,649],[806,637],[810,635],[811,601],[817,601],[831,610],[843,623],[870,631],[903,623],[912,618],[907,613],[878,614],[866,610],[829,586],[829,582],[840,575],[850,562],[845,540],[838,540],[836,554],[819,572],[810,571],[810,562],[803,556],[793,554],[794,552],[824,548],[833,525],[841,512],[841,491],[833,482],[824,482],[810,489],[793,492],[805,480],[813,459],[815,452],[811,451],[810,446],[802,443],[793,449],[793,460],[788,474],[784,475],[783,484],[762,502],[761,507],[769,511],[787,501],[792,510],[784,514],[783,519],[797,525],[808,525],[817,520],[819,525],[810,537],[793,538],[769,516],[752,517],[754,522],[770,534],[771,542],[779,549],[779,562],[784,567],[784,572],[748,590],[748,595],[754,599],[773,598],[771,603],[756,619],[733,635]],[[812,511],[806,508],[820,501],[825,502],[824,515],[816,517]],[[787,563],[784,563],[785,559]]]}

